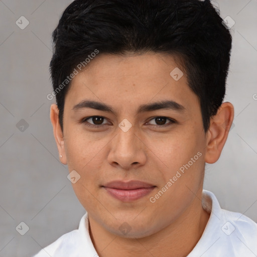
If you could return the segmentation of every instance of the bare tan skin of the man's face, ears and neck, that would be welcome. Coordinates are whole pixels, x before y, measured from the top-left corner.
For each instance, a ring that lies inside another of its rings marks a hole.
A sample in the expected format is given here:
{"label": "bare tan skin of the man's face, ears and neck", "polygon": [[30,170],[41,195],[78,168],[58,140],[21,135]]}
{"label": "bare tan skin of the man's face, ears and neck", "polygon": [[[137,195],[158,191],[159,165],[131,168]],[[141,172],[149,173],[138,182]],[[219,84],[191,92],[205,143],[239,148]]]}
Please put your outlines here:
{"label": "bare tan skin of the man's face, ears and neck", "polygon": [[[72,186],[88,212],[90,236],[100,257],[186,256],[208,222],[209,214],[201,206],[204,165],[219,159],[234,109],[231,103],[222,103],[204,133],[198,97],[185,72],[178,81],[171,77],[175,67],[183,70],[171,55],[102,54],[73,78],[65,97],[63,132],[58,108],[51,106],[60,161],[81,176]],[[73,110],[85,99],[108,104],[115,113]],[[137,112],[141,104],[162,100],[173,100],[185,111]],[[104,126],[96,127],[100,123],[92,119],[80,122],[94,115],[104,117]],[[170,125],[164,127],[155,119],[160,116]],[[127,132],[118,126],[124,118],[132,124]],[[155,203],[150,202],[198,152],[201,157]],[[156,187],[143,198],[123,202],[101,187],[113,180],[140,180]],[[131,228],[126,234],[119,229],[123,222]]]}

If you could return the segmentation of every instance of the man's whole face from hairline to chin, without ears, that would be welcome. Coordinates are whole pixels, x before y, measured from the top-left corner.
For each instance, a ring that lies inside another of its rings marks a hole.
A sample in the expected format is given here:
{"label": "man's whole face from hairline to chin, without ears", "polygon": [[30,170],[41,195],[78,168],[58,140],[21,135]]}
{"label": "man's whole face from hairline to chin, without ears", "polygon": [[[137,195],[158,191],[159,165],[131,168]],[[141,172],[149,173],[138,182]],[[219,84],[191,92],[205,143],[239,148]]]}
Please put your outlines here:
{"label": "man's whole face from hairline to chin, without ears", "polygon": [[170,55],[100,55],[65,97],[65,158],[80,175],[74,191],[89,217],[114,234],[160,231],[186,212],[192,192],[201,196],[200,103],[185,72],[170,75],[176,67],[183,71]]}

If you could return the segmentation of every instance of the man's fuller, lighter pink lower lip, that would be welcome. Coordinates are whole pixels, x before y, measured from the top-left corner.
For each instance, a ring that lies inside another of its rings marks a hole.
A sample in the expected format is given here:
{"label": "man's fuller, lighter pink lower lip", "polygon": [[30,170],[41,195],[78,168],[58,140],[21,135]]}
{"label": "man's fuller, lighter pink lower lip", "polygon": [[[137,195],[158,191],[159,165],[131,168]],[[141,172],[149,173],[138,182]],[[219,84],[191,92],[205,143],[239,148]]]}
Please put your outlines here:
{"label": "man's fuller, lighter pink lower lip", "polygon": [[149,188],[137,188],[131,190],[116,189],[110,187],[104,187],[104,189],[114,198],[123,202],[131,202],[138,200],[153,191],[155,187]]}

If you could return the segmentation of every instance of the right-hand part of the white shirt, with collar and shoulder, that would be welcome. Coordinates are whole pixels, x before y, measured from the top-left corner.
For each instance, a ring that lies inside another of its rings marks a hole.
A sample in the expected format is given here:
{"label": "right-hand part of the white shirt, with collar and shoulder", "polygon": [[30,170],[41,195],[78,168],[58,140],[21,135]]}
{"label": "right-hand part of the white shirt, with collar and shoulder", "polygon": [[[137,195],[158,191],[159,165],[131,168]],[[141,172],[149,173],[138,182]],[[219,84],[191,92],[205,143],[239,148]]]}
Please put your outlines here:
{"label": "right-hand part of the white shirt, with collar and shoulder", "polygon": [[212,192],[203,190],[202,206],[210,218],[188,257],[256,257],[257,224],[245,215],[220,208]]}

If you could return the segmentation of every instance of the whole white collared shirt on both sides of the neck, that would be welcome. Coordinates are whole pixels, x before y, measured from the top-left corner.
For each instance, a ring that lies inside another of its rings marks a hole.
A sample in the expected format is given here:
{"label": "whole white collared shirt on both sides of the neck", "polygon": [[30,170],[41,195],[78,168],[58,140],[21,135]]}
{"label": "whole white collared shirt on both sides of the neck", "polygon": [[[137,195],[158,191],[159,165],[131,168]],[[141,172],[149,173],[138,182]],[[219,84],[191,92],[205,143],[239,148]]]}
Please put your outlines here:
{"label": "whole white collared shirt on both sides of the neck", "polygon": [[[210,213],[204,232],[187,257],[256,257],[257,224],[241,213],[221,209],[212,192],[203,190],[202,206]],[[98,257],[89,235],[88,214],[79,228],[62,235],[34,257]]]}

